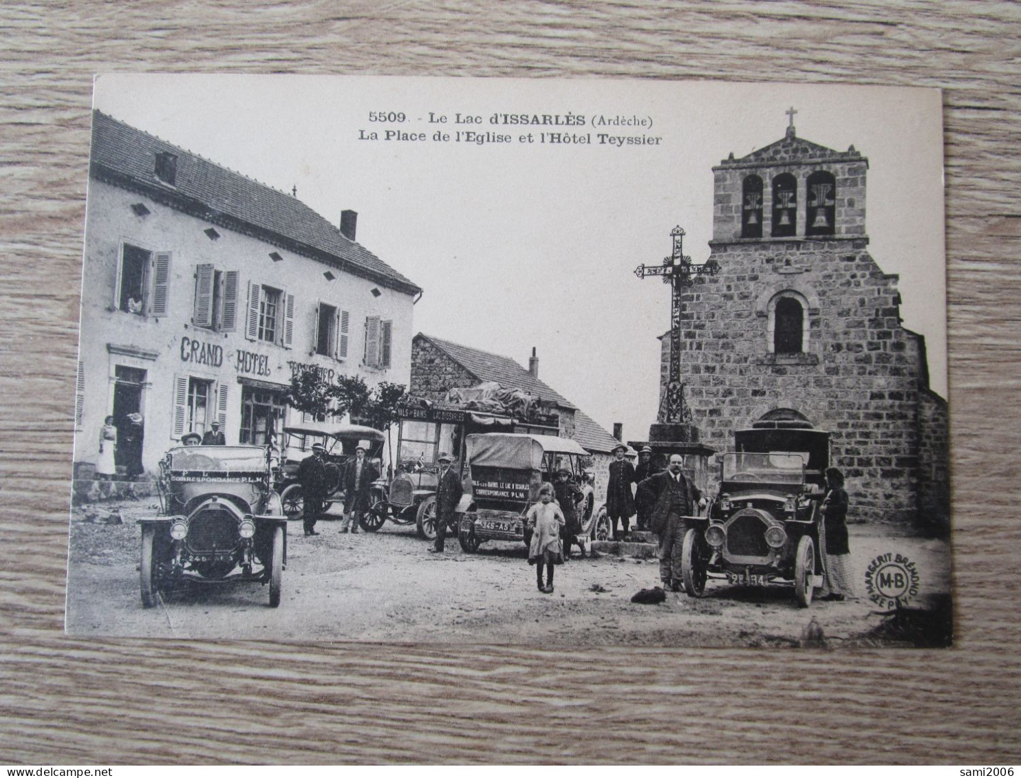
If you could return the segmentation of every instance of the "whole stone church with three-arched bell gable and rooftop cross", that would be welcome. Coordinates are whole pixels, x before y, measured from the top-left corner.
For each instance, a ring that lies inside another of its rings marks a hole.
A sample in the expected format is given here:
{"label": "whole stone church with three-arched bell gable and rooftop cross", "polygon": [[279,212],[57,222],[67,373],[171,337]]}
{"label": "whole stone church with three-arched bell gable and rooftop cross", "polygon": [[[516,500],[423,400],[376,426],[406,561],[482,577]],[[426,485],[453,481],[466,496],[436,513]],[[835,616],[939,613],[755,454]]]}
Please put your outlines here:
{"label": "whole stone church with three-arched bell gable and rooftop cross", "polygon": [[945,527],[946,401],[902,326],[897,276],[867,250],[868,159],[798,138],[790,115],[784,138],[713,168],[719,272],[682,293],[692,421],[717,451],[758,421],[809,422],[831,433],[852,521]]}

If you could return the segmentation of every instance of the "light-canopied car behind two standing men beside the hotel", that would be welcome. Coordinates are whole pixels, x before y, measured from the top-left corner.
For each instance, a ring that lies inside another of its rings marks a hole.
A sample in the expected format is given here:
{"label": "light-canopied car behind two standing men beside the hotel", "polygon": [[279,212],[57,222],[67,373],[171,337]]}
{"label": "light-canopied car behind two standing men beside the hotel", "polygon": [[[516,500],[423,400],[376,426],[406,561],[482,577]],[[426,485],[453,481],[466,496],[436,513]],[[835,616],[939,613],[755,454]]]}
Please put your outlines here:
{"label": "light-canopied car behind two standing men beside the hotel", "polygon": [[298,468],[306,456],[312,455],[313,443],[322,443],[326,448],[323,458],[327,464],[331,488],[323,509],[328,510],[335,500],[344,497],[344,465],[354,457],[354,448],[359,442],[369,441],[371,450],[368,454],[370,458],[378,460],[384,440],[386,437],[379,430],[356,424],[285,427],[281,463],[275,474],[274,488],[283,500],[284,514],[287,518],[300,519],[304,513],[305,495],[304,489],[298,482]]}

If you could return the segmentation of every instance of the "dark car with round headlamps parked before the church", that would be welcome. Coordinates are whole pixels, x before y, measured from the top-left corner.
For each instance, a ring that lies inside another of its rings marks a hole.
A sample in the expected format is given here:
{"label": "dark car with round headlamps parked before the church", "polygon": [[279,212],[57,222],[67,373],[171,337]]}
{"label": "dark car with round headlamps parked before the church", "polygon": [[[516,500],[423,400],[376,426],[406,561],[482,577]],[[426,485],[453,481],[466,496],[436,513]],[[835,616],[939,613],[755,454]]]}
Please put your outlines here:
{"label": "dark car with round headlamps parked before the church", "polygon": [[757,422],[734,433],[723,454],[720,491],[706,517],[689,517],[681,570],[701,596],[710,574],[731,583],[792,582],[798,605],[822,585],[821,505],[829,433],[801,422]]}

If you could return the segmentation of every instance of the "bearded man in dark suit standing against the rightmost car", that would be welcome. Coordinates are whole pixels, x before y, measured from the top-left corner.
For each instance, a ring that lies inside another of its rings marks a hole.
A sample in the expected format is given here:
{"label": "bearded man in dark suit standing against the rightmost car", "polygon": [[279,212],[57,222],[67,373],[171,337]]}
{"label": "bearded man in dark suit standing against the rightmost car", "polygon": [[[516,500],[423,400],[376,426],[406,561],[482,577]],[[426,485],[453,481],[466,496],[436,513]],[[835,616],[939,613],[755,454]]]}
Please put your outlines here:
{"label": "bearded man in dark suit standing against the rightmost car", "polygon": [[659,473],[639,484],[640,499],[651,504],[649,525],[660,539],[660,580],[663,588],[681,590],[681,555],[684,550],[684,534],[688,523],[684,517],[693,516],[699,492],[690,479],[681,472],[684,458],[680,454],[670,455],[670,466],[665,473]]}

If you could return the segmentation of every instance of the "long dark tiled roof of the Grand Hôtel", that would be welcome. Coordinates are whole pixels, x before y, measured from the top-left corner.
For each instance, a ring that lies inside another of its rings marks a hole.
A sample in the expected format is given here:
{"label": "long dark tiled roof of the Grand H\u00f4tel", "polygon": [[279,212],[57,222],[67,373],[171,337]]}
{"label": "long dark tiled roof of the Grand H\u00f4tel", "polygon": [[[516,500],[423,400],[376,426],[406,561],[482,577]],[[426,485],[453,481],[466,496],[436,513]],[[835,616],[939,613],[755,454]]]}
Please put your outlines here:
{"label": "long dark tiled roof of the Grand H\u00f4tel", "polygon": [[[155,176],[155,154],[177,155],[173,186]],[[214,224],[251,229],[279,245],[336,264],[402,292],[421,291],[336,225],[295,197],[136,130],[101,111],[92,114],[94,177],[134,185],[174,207],[200,211]],[[204,212],[203,212],[204,211]]]}

